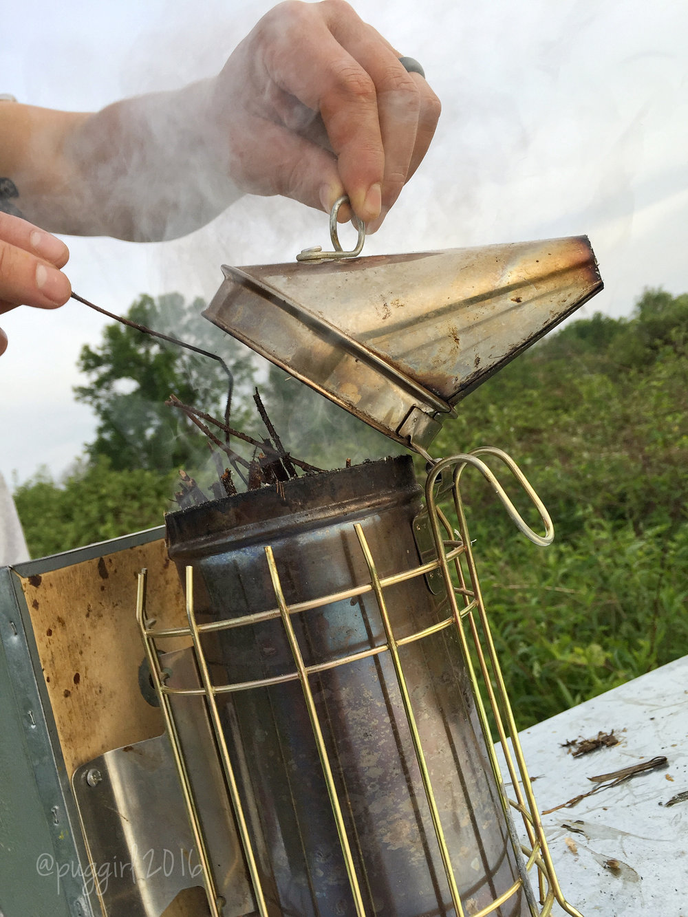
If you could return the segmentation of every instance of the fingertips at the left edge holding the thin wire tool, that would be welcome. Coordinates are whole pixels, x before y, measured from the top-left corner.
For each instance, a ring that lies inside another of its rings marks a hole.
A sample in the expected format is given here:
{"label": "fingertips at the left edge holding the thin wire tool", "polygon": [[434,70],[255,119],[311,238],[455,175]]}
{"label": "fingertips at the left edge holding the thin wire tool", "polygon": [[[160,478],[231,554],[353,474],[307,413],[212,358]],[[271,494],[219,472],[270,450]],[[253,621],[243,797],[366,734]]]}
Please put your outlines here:
{"label": "fingertips at the left edge holding the thin wire tool", "polygon": [[[66,303],[72,286],[59,269],[69,257],[59,238],[0,212],[0,315],[17,305],[54,309]],[[0,354],[6,346],[6,334],[0,329]]]}

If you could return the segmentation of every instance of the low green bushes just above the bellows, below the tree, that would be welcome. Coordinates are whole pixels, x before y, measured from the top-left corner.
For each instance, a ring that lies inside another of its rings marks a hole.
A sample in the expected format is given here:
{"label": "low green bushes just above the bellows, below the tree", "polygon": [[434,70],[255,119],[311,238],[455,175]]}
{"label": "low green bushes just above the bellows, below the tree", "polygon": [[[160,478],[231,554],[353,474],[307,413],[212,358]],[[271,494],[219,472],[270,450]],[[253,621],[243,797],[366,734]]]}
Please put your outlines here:
{"label": "low green bushes just above the bellows, below the tree", "polygon": [[107,458],[80,465],[61,484],[42,470],[15,491],[31,557],[161,525],[173,474],[120,471]]}

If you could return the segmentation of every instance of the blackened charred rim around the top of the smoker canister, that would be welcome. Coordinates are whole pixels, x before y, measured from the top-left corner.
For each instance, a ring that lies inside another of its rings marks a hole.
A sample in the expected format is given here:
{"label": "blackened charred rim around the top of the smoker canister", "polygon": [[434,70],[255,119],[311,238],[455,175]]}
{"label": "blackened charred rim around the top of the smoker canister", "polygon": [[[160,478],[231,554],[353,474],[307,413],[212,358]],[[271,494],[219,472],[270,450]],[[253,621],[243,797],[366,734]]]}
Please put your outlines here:
{"label": "blackened charred rim around the top of the smoker canister", "polygon": [[[237,493],[165,515],[168,551],[172,560],[203,554],[231,532],[232,542],[265,539],[290,517],[290,525],[322,525],[328,518],[372,514],[390,503],[420,504],[421,489],[410,456],[364,461],[361,465],[321,471],[284,481],[276,487]],[[256,531],[258,529],[258,531]]]}

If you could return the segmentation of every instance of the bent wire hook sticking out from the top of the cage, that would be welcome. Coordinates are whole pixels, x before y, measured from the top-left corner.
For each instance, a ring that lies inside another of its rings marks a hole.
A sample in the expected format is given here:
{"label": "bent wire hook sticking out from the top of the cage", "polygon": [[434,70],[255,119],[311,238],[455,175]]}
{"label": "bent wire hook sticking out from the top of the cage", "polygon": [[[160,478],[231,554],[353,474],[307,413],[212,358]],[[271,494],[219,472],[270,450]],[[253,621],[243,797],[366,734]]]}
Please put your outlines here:
{"label": "bent wire hook sticking out from the top of the cage", "polygon": [[[516,481],[521,485],[524,491],[527,493],[530,501],[535,506],[538,511],[538,515],[542,521],[542,524],[545,526],[545,535],[538,535],[537,532],[534,532],[532,528],[524,521],[523,517],[516,510],[516,506],[509,499],[508,494],[505,492],[505,489],[502,487],[500,482],[497,480],[494,471],[488,468],[485,463],[478,458],[481,455],[494,456],[494,458],[499,458],[508,470],[516,478]],[[477,449],[473,449],[472,452],[460,453],[456,456],[450,456],[449,458],[440,459],[429,471],[426,481],[426,500],[427,505],[430,506],[431,503],[436,502],[436,496],[433,493],[433,488],[435,483],[438,480],[438,477],[441,475],[442,471],[454,467],[454,473],[451,476],[451,489],[458,490],[459,479],[461,478],[462,471],[466,468],[467,465],[471,465],[473,468],[476,468],[481,472],[483,478],[493,487],[494,492],[499,497],[500,501],[505,507],[506,513],[509,515],[509,518],[512,520],[514,525],[522,535],[525,535],[529,541],[532,541],[534,545],[538,547],[548,547],[551,545],[554,540],[554,525],[552,525],[552,520],[547,512],[545,504],[542,503],[538,494],[533,490],[530,481],[527,480],[526,475],[521,471],[516,462],[511,456],[507,455],[502,449],[498,449],[492,446],[483,446]],[[447,484],[442,484],[440,481],[439,493],[447,492],[449,487]]]}

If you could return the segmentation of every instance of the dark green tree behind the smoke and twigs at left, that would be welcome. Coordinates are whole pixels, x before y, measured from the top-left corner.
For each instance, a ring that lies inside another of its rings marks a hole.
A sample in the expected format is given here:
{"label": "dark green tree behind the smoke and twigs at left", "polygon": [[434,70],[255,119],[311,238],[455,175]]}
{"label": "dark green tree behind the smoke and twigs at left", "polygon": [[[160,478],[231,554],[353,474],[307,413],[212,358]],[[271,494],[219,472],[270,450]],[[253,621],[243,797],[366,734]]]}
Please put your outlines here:
{"label": "dark green tree behind the smoke and twigs at left", "polygon": [[[224,359],[234,377],[232,425],[241,426],[247,419],[244,405],[255,360],[248,348],[201,317],[204,307],[200,299],[185,304],[179,293],[157,300],[144,295],[126,317]],[[96,438],[86,447],[92,460],[105,456],[114,470],[162,473],[205,464],[205,437],[165,400],[175,394],[222,419],[227,375],[216,360],[113,323],[105,326],[99,347],[82,349],[78,365],[89,384],[75,389],[76,399],[89,404],[98,418]]]}

